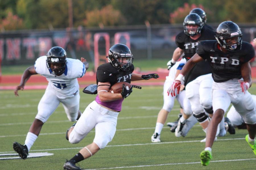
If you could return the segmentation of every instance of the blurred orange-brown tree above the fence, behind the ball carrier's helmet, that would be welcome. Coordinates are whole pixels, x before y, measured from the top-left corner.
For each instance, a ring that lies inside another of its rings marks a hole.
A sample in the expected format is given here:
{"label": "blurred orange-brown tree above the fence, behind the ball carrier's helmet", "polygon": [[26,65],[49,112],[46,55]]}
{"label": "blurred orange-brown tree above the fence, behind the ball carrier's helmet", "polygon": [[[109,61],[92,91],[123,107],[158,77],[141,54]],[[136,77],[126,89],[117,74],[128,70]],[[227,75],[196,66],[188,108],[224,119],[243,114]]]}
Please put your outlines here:
{"label": "blurred orange-brown tree above the fence, behind the ball carrier's helmet", "polygon": [[86,26],[104,26],[110,25],[124,25],[126,22],[125,18],[119,10],[113,9],[112,5],[107,5],[102,9],[94,9],[86,12],[86,19],[84,24]]}

